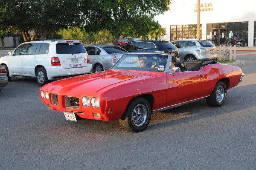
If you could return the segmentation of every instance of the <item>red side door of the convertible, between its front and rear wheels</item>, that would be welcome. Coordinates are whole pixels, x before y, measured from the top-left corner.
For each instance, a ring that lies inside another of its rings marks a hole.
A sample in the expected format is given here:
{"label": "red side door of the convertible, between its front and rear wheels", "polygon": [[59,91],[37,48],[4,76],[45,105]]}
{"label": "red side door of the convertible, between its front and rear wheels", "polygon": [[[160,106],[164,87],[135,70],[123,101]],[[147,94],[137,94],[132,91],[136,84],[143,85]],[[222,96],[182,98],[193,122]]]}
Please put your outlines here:
{"label": "red side door of the convertible, between its front and rear wheels", "polygon": [[175,72],[167,75],[167,106],[204,97],[204,76],[201,71]]}

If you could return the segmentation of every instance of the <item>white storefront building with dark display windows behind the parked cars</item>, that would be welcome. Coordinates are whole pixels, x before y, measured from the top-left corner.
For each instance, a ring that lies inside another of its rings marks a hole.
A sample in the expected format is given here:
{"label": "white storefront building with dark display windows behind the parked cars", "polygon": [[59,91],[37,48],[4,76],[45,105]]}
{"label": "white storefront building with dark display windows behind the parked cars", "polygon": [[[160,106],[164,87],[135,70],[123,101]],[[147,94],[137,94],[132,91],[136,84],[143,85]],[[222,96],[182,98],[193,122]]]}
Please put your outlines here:
{"label": "white storefront building with dark display windows behind the parked cars", "polygon": [[[155,18],[166,35],[161,40],[197,39],[197,0],[172,0],[170,11]],[[250,0],[201,0],[201,39],[216,46],[230,38],[244,38],[245,46],[256,46],[256,10]]]}

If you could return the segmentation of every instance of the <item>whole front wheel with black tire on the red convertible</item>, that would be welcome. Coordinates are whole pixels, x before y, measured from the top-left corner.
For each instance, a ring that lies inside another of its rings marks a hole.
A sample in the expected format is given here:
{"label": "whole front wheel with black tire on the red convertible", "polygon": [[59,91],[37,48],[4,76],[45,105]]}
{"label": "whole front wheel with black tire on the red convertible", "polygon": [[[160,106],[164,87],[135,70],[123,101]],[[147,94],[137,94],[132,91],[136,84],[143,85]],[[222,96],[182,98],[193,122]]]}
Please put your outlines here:
{"label": "whole front wheel with black tire on the red convertible", "polygon": [[128,104],[124,120],[119,123],[122,128],[131,132],[142,132],[148,127],[151,119],[151,107],[145,98],[135,98]]}

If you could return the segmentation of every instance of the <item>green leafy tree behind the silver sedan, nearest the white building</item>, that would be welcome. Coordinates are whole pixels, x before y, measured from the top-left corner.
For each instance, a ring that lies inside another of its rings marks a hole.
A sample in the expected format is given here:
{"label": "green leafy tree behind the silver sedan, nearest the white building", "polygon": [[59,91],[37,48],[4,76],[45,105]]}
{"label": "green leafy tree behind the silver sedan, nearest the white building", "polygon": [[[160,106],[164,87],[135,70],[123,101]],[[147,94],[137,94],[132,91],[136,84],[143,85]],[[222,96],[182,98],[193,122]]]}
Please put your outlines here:
{"label": "green leafy tree behind the silver sedan, nearest the white building", "polygon": [[153,18],[168,11],[169,5],[170,0],[87,0],[81,2],[81,13],[87,31],[110,30],[116,45],[120,35],[145,36],[159,30]]}

